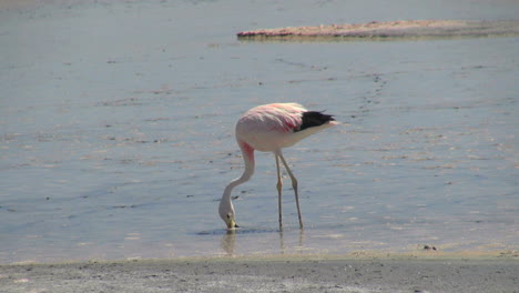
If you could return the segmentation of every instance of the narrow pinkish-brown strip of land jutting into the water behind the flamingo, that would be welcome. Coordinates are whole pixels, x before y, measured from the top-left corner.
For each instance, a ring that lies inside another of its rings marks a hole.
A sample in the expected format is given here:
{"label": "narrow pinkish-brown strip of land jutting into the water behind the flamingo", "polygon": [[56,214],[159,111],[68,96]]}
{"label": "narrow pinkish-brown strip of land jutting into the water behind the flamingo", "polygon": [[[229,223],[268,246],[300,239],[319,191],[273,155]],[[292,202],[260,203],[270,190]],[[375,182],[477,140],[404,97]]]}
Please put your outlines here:
{"label": "narrow pinkish-brown strip of land jutting into the water behind the flamingo", "polygon": [[399,20],[357,24],[287,27],[242,31],[238,39],[397,39],[519,36],[519,20]]}

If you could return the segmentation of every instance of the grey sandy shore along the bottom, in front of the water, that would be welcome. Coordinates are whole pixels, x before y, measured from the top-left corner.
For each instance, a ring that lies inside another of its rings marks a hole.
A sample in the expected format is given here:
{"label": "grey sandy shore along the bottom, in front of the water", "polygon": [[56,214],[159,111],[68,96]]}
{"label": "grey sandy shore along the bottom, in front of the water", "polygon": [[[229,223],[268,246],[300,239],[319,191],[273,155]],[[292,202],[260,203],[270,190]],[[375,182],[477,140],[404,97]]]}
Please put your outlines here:
{"label": "grey sandy shore along the bottom, in front of the water", "polygon": [[2,292],[517,292],[517,255],[263,256],[0,266]]}

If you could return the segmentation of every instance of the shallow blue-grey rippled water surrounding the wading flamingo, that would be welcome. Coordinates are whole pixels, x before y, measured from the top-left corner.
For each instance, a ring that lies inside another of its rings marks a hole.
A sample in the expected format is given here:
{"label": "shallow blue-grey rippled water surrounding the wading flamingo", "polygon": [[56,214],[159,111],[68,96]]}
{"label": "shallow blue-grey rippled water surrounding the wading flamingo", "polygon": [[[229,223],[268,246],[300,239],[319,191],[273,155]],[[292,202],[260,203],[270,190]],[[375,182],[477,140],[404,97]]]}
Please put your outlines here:
{"label": "shallow blue-grey rippled water surrounding the wading flamingo", "polygon": [[[240,42],[256,28],[510,19],[513,1],[60,2],[0,10],[0,263],[518,249],[519,38]],[[403,9],[405,7],[405,9]],[[254,13],[251,13],[254,11]],[[296,101],[343,124],[242,172],[236,119]]]}

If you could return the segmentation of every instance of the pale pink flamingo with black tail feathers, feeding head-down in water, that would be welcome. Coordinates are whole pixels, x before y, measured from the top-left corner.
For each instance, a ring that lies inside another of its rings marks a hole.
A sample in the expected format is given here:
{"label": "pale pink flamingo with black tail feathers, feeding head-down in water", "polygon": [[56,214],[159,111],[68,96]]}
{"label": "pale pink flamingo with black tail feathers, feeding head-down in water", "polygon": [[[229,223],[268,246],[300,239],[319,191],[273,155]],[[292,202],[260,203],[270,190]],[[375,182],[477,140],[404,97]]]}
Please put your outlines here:
{"label": "pale pink flamingo with black tail feathers, feeding head-down in water", "polygon": [[301,216],[297,180],[283,156],[282,149],[288,148],[298,141],[327,128],[338,124],[333,115],[318,111],[308,111],[298,103],[272,103],[257,105],[248,110],[236,123],[236,142],[242,150],[245,170],[243,174],[231,181],[225,188],[220,201],[220,216],[232,230],[238,228],[235,221],[234,206],[231,201],[233,189],[248,181],[254,173],[254,151],[273,152],[277,168],[277,199],[279,212],[279,230],[283,229],[282,216],[282,176],[279,161],[285,166],[292,180],[295,193],[299,229],[303,229]]}

